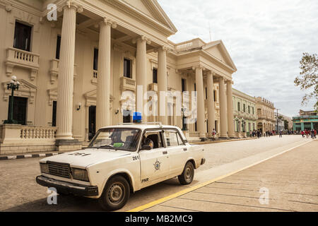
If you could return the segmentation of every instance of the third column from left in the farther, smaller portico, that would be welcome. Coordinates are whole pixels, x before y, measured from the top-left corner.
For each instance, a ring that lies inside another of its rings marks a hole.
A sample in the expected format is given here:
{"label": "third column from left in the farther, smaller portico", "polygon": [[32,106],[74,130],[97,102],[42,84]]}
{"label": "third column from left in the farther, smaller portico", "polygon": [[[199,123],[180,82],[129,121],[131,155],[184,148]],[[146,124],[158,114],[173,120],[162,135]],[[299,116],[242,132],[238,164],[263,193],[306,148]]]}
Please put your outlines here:
{"label": "third column from left in the farther, smaller portico", "polygon": [[228,113],[227,113],[227,100],[225,95],[224,78],[221,76],[219,79],[220,86],[220,137],[228,137]]}

